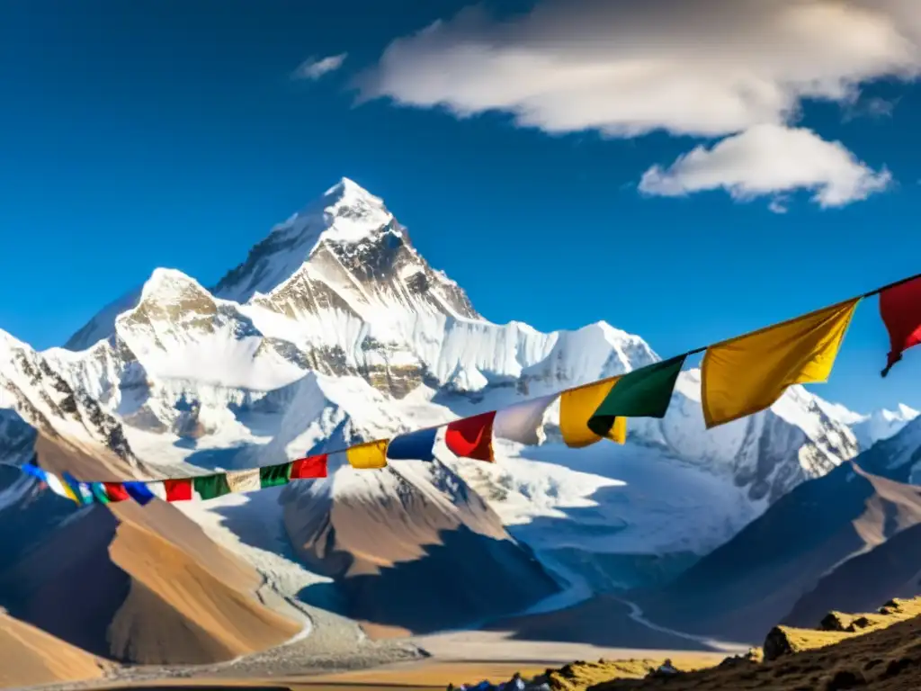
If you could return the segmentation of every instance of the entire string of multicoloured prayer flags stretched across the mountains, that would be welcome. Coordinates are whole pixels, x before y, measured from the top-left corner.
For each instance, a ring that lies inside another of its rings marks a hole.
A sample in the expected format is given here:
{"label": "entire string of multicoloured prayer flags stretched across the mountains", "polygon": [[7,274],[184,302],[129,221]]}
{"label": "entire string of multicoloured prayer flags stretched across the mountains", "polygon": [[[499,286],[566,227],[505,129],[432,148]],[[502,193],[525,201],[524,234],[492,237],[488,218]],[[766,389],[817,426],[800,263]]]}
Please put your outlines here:
{"label": "entire string of multicoloured prayer flags stretched across the mountains", "polygon": [[[706,347],[701,366],[706,427],[764,410],[794,384],[827,381],[857,305],[862,298],[877,294],[880,317],[890,336],[890,352],[882,370],[885,377],[905,350],[921,345],[921,275]],[[543,418],[559,396],[559,427],[566,446],[581,448],[600,439],[623,444],[628,417],[666,415],[686,357],[703,350],[692,350],[620,377],[523,401],[497,412],[454,420],[446,426],[445,443],[457,456],[486,462],[495,461],[494,435],[521,444],[538,444],[542,440]],[[405,432],[391,441],[378,439],[335,452],[344,452],[348,463],[361,470],[384,468],[388,457],[432,461],[437,429]],[[328,460],[323,453],[251,470],[124,483],[80,482],[71,474],[65,472],[59,477],[33,463],[24,464],[23,470],[55,494],[79,505],[128,498],[146,505],[154,498],[170,502],[211,499],[282,486],[295,479],[326,477]]]}

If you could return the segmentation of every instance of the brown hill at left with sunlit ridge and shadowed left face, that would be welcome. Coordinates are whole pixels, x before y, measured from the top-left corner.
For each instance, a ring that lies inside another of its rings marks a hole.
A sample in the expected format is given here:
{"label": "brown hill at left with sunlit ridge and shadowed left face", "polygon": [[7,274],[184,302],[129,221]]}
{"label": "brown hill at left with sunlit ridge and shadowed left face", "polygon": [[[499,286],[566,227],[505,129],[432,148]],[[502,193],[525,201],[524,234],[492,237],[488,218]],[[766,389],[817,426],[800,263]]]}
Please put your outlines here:
{"label": "brown hill at left with sunlit ridge and shadowed left face", "polygon": [[[108,460],[54,439],[39,455],[42,466],[77,477],[105,476]],[[262,605],[261,583],[176,507],[124,502],[79,509],[0,571],[0,604],[102,658],[224,662],[300,629]]]}

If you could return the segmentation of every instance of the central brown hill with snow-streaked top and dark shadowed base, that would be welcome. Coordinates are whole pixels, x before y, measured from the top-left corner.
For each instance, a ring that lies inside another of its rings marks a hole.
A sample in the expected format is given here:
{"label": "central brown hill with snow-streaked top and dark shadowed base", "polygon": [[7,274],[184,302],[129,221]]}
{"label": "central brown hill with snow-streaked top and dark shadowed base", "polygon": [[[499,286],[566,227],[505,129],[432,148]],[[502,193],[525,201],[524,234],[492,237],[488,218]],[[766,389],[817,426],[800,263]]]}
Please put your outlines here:
{"label": "central brown hill with snow-streaked top and dark shadowed base", "polygon": [[[373,637],[425,634],[519,611],[558,590],[482,498],[447,468],[455,495],[393,467],[347,478],[361,494],[286,487],[285,525],[310,568],[337,581]],[[399,498],[395,499],[395,498]]]}

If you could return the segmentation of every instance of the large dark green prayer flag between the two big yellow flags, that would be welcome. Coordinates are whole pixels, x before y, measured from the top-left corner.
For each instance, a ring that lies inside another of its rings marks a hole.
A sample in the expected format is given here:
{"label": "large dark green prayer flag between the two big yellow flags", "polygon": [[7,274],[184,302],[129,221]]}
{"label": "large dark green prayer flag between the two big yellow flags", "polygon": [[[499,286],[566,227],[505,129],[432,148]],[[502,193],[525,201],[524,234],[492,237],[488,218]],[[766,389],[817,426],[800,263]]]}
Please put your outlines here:
{"label": "large dark green prayer flag between the two big yellow flags", "polygon": [[604,437],[615,417],[665,417],[684,357],[672,357],[624,374],[589,419],[589,428]]}

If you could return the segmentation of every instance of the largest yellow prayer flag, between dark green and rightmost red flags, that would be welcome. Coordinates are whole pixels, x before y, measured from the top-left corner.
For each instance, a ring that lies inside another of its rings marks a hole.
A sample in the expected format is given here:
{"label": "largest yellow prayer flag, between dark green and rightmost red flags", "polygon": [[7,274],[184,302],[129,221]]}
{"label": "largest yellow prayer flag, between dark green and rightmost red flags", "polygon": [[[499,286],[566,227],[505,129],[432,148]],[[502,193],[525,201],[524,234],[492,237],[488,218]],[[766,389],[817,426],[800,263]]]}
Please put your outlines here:
{"label": "largest yellow prayer flag, between dark green and rightmost red flags", "polygon": [[787,386],[827,381],[859,299],[733,338],[706,350],[706,427],[770,407]]}

